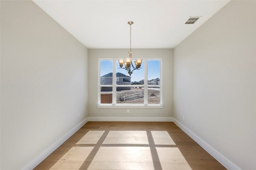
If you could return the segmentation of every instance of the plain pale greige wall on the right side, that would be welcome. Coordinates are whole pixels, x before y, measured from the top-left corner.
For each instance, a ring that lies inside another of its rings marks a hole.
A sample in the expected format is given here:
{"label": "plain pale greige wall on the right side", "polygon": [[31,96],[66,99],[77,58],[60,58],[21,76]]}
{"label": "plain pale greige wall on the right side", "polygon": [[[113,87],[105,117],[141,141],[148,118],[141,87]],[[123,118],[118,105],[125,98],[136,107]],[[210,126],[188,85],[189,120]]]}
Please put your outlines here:
{"label": "plain pale greige wall on the right side", "polygon": [[255,9],[232,0],[174,49],[174,118],[244,170],[256,169]]}

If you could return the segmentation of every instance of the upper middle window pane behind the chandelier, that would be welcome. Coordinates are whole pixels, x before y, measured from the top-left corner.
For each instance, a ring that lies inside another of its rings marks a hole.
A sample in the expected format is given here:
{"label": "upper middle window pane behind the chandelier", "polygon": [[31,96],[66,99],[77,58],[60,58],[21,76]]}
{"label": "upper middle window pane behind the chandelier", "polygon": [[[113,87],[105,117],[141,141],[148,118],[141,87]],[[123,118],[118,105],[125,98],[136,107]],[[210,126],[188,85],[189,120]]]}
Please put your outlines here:
{"label": "upper middle window pane behind the chandelier", "polygon": [[[133,60],[132,63],[135,66],[134,61],[135,60]],[[131,71],[132,70],[133,68],[131,66]],[[144,84],[144,61],[142,61],[142,64],[139,69],[136,69],[132,72],[131,76],[128,74],[128,71],[124,69],[124,66],[120,68],[118,61],[116,61],[116,74],[117,74],[116,76],[120,74],[121,76],[126,75],[126,77],[130,77],[130,83],[140,82],[140,84]]]}

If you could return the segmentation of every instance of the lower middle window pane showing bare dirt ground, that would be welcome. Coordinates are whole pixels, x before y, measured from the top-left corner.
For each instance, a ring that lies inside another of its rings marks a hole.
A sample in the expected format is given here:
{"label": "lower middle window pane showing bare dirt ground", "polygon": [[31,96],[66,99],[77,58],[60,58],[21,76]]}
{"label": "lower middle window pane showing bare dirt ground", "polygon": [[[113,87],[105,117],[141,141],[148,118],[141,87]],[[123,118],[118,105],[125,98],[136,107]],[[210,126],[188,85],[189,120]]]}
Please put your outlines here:
{"label": "lower middle window pane showing bare dirt ground", "polygon": [[143,87],[116,87],[117,104],[144,104]]}

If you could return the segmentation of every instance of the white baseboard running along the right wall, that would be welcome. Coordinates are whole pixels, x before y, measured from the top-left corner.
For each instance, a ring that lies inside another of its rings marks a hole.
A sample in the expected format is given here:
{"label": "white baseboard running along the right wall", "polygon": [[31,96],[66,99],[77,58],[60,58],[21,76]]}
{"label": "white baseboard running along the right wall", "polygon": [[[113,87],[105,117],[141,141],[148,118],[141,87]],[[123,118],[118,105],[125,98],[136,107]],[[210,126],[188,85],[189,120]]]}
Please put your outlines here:
{"label": "white baseboard running along the right wall", "polygon": [[216,160],[218,160],[225,168],[228,170],[241,170],[238,166],[236,166],[233,162],[228,160],[225,156],[223,156],[220,152],[211,147],[208,143],[190,131],[186,126],[182,125],[178,120],[172,118],[173,122],[184,131],[188,136],[190,136],[194,141],[196,141],[204,150],[206,150],[210,155],[212,155]]}

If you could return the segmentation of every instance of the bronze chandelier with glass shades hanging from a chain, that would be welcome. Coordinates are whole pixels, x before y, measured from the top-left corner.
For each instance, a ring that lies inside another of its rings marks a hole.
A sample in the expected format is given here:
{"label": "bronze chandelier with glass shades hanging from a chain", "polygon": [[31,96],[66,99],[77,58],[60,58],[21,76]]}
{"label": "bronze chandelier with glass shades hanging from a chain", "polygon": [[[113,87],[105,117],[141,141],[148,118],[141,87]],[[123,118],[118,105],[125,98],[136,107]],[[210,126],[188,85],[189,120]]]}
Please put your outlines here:
{"label": "bronze chandelier with glass shades hanging from a chain", "polygon": [[[128,21],[128,24],[130,25],[130,51],[129,51],[129,58],[126,59],[120,59],[118,60],[120,68],[124,68],[126,71],[128,71],[128,74],[131,75],[134,70],[139,70],[140,65],[142,63],[141,59],[136,59],[134,61],[135,66],[132,64],[132,24],[133,21]],[[124,67],[123,67],[124,65]]]}

